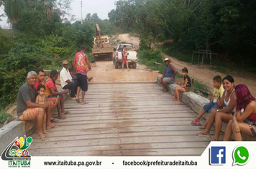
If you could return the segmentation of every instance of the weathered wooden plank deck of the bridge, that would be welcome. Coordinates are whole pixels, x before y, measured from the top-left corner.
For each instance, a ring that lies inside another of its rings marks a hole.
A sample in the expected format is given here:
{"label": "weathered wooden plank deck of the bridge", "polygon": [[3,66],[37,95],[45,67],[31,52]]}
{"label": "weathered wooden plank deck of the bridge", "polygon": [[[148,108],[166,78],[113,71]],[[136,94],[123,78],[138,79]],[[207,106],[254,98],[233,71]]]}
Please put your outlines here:
{"label": "weathered wooden plank deck of the bridge", "polygon": [[[29,153],[42,156],[201,155],[210,137],[191,125],[196,113],[175,105],[157,83],[89,84],[88,105],[65,101],[70,111],[48,140],[34,139]],[[211,131],[214,134],[214,131]],[[37,138],[36,132],[32,137]],[[223,137],[221,135],[220,137]],[[221,138],[220,138],[221,139]]]}

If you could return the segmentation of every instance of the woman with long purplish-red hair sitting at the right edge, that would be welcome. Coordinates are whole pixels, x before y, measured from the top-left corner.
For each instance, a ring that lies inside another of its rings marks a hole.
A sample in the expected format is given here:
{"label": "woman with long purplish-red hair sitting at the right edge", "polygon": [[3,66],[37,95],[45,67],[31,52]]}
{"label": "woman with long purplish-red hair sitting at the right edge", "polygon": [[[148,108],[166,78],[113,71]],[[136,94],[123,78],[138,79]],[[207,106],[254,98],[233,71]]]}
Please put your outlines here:
{"label": "woman with long purplish-red hair sitting at the right edge", "polygon": [[244,84],[238,84],[235,88],[237,95],[237,109],[233,120],[229,121],[224,135],[224,141],[234,135],[234,140],[242,141],[241,132],[256,137],[256,100]]}

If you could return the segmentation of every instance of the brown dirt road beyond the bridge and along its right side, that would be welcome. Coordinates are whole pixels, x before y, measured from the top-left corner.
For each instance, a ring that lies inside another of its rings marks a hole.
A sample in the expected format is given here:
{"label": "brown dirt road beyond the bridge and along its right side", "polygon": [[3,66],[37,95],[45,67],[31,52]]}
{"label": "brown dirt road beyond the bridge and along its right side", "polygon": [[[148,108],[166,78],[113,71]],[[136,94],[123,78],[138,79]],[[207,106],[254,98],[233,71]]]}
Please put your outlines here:
{"label": "brown dirt road beyond the bridge and along its right side", "polygon": [[[120,41],[132,42],[136,47],[139,47],[140,39],[138,37],[129,37],[129,34],[119,34]],[[139,56],[140,57],[140,56]],[[183,67],[188,68],[188,74],[190,76],[195,77],[198,81],[203,82],[209,87],[209,90],[214,90],[212,86],[212,78],[219,74],[222,78],[227,74],[223,74],[220,72],[216,72],[214,70],[210,70],[208,68],[201,69],[198,65],[191,65],[186,62],[181,62],[174,57],[170,57],[167,54],[163,54],[163,57],[168,57],[173,60],[173,65],[180,70]],[[127,72],[125,69],[122,72],[122,69],[114,69],[114,64],[110,61],[101,61],[97,62],[96,67],[93,67],[88,75],[93,76],[93,82],[115,82],[115,81],[152,81],[156,80],[156,77],[159,73],[150,72],[144,65],[137,65],[137,69],[131,69],[130,72]],[[246,84],[249,87],[252,95],[256,97],[256,75],[253,76],[241,76],[235,73],[231,73],[232,77],[234,77],[235,84]]]}

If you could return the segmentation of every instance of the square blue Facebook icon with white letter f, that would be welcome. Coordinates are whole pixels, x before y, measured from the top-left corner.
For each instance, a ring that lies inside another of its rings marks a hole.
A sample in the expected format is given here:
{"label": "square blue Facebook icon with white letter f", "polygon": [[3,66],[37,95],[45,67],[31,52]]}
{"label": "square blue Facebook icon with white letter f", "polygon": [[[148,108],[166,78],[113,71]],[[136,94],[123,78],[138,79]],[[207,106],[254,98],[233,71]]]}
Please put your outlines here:
{"label": "square blue Facebook icon with white letter f", "polygon": [[210,155],[211,165],[226,164],[226,147],[211,147]]}

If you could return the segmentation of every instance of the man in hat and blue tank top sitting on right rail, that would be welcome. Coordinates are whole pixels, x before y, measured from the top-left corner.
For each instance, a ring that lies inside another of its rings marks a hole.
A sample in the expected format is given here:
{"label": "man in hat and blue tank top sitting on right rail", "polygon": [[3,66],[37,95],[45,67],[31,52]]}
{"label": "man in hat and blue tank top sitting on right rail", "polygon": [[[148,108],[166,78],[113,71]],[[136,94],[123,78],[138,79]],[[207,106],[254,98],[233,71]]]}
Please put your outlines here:
{"label": "man in hat and blue tank top sitting on right rail", "polygon": [[165,58],[165,69],[163,71],[163,75],[159,75],[157,77],[158,81],[163,86],[163,92],[168,92],[168,84],[175,82],[175,76],[177,74],[177,70],[173,66],[173,64],[170,64],[171,60],[168,58]]}

